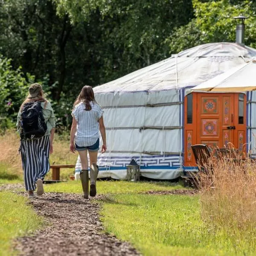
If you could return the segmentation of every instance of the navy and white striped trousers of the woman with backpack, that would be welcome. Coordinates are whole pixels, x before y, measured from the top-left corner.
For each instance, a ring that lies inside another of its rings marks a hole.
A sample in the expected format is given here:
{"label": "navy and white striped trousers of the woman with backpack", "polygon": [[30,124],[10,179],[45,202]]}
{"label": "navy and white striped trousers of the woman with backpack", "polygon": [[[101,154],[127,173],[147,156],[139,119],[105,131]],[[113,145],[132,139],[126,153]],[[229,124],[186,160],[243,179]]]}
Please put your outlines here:
{"label": "navy and white striped trousers of the woman with backpack", "polygon": [[38,179],[49,172],[50,135],[37,140],[21,140],[21,160],[26,191],[35,190]]}

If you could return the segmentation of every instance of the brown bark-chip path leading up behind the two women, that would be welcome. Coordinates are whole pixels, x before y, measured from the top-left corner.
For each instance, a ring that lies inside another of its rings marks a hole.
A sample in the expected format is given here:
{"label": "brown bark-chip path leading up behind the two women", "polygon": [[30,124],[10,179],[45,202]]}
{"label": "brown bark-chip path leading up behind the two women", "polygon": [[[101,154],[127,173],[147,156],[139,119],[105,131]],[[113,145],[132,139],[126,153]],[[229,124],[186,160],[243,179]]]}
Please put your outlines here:
{"label": "brown bark-chip path leading up behind the two women", "polygon": [[[18,192],[23,194],[24,192]],[[96,198],[102,198],[97,196]],[[46,193],[30,204],[48,226],[33,236],[16,240],[15,249],[26,256],[140,255],[130,244],[102,233],[99,204],[81,195]]]}

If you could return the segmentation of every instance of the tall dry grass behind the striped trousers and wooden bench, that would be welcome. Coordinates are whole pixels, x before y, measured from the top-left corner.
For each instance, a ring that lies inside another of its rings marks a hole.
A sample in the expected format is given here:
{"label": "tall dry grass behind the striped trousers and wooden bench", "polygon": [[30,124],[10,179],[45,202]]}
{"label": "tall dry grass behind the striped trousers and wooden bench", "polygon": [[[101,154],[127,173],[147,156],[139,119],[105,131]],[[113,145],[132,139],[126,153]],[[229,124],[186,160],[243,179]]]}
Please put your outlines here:
{"label": "tall dry grass behind the striped trousers and wooden bench", "polygon": [[[19,147],[20,137],[15,131],[7,131],[3,136],[0,136],[0,176],[1,172],[8,171],[22,177],[21,157],[18,155]],[[73,154],[69,150],[68,136],[59,137],[55,134],[50,163],[76,164],[77,156],[78,154]],[[73,169],[61,170],[61,178],[68,179],[69,175],[73,172]]]}

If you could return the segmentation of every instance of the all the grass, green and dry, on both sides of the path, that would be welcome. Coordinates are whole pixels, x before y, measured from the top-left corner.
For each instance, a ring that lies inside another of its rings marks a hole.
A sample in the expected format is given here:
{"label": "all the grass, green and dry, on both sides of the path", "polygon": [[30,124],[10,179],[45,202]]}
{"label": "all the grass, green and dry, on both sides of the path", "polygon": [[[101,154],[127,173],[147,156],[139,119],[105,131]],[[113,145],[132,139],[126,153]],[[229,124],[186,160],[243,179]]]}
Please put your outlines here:
{"label": "all the grass, green and dry, on both sides of the path", "polygon": [[[0,137],[0,183],[22,182],[18,145],[14,133]],[[76,157],[68,140],[57,136],[51,163],[75,163]],[[211,175],[201,176],[197,195],[147,194],[184,189],[182,183],[98,181],[98,193],[105,195],[96,200],[105,232],[131,242],[145,256],[255,255],[255,164],[248,158],[214,164]],[[64,170],[67,182],[47,184],[45,192],[81,194],[80,182],[69,180],[73,171]],[[2,191],[0,201],[0,233],[7,234],[0,252],[12,255],[12,239],[42,228],[44,221],[21,196]]]}

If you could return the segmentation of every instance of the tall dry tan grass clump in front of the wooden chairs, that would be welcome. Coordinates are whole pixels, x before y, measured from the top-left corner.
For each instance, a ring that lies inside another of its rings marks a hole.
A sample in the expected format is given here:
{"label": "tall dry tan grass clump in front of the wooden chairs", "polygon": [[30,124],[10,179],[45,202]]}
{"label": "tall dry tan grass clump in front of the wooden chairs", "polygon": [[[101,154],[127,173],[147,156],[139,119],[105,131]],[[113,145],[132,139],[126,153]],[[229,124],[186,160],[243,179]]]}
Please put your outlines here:
{"label": "tall dry tan grass clump in front of the wooden chairs", "polygon": [[237,241],[241,233],[255,235],[256,162],[237,153],[208,160],[197,179],[203,219]]}

